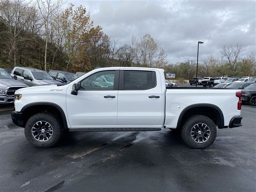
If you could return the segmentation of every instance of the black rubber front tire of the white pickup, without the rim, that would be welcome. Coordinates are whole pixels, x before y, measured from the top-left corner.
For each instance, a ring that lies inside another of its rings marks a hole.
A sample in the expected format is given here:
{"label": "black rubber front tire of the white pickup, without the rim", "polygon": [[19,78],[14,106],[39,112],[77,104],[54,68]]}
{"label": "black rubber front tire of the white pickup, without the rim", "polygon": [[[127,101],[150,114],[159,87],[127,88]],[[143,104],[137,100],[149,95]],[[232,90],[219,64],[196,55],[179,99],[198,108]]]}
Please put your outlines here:
{"label": "black rubber front tire of the white pickup, without the rim", "polygon": [[[52,137],[47,141],[38,141],[32,135],[32,126],[38,121],[46,121],[49,122],[53,129]],[[24,128],[24,133],[28,142],[34,145],[36,148],[50,148],[54,146],[61,138],[63,134],[63,126],[60,120],[54,116],[54,114],[42,112],[31,116],[26,122],[26,126]]]}

